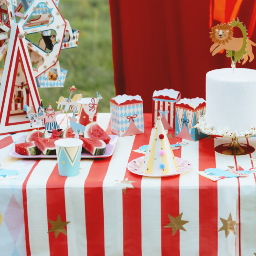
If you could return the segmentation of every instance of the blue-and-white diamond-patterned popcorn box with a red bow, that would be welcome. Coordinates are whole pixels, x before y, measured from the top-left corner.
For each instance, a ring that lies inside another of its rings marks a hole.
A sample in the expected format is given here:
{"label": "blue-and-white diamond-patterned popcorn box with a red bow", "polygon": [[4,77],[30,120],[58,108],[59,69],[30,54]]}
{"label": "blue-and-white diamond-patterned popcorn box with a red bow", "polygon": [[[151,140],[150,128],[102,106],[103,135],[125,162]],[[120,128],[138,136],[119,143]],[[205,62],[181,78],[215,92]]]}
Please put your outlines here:
{"label": "blue-and-white diamond-patterned popcorn box with a red bow", "polygon": [[141,96],[117,95],[110,99],[111,131],[118,136],[144,133]]}

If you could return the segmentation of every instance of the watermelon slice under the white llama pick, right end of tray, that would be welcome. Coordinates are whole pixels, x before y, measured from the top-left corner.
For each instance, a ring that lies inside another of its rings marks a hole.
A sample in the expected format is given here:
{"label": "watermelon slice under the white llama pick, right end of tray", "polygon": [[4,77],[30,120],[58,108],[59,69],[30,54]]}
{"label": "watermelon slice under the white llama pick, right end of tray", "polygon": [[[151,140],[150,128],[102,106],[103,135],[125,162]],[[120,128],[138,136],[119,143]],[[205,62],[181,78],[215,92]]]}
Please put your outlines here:
{"label": "watermelon slice under the white llama pick, right end of tray", "polygon": [[84,131],[84,137],[102,140],[106,144],[108,144],[111,139],[108,136],[108,134],[96,122],[91,122],[86,125],[85,131]]}

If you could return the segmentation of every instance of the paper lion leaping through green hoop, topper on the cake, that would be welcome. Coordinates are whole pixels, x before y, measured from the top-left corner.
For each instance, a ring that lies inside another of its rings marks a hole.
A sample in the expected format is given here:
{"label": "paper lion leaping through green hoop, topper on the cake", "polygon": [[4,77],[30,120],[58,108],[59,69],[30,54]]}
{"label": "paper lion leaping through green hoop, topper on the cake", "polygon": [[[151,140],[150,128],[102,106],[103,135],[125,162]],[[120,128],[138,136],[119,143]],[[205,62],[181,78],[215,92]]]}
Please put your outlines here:
{"label": "paper lion leaping through green hoop, topper on the cake", "polygon": [[[233,37],[233,28],[238,27],[242,34],[242,38]],[[220,23],[220,25],[216,25],[212,27],[212,32],[210,32],[210,38],[214,44],[210,48],[210,52],[212,56],[220,52],[222,49],[226,50],[226,56],[231,58],[231,67],[234,69],[236,67],[237,62],[246,63],[248,57],[250,58],[249,62],[254,59],[254,55],[252,53],[252,45],[256,46],[256,43],[249,40],[247,37],[247,30],[245,26],[243,26],[243,22],[240,22],[237,18],[237,21],[233,19],[232,23]]]}

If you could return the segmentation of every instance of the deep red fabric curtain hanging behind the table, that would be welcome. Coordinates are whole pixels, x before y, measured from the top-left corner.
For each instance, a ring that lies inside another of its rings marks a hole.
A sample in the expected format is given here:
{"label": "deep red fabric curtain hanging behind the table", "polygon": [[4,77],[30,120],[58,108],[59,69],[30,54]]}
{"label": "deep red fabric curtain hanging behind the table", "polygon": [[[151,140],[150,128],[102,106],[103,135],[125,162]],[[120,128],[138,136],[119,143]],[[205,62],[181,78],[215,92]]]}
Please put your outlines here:
{"label": "deep red fabric curtain hanging behind the table", "polygon": [[[182,98],[205,98],[205,74],[231,65],[225,51],[211,56],[211,27],[238,17],[256,42],[255,3],[109,0],[116,95],[141,95],[145,113],[152,111],[154,90],[172,88]],[[243,67],[256,69],[256,57]]]}

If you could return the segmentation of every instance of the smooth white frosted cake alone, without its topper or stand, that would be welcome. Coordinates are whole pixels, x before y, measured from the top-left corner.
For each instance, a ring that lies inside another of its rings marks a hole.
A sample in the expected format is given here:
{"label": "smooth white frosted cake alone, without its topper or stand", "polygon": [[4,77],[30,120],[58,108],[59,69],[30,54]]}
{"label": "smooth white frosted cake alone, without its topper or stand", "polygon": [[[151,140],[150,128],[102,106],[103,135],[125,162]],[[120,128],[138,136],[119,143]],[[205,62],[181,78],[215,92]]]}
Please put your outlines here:
{"label": "smooth white frosted cake alone, without its topper or stand", "polygon": [[205,123],[215,130],[245,131],[256,126],[256,70],[222,68],[206,74]]}

